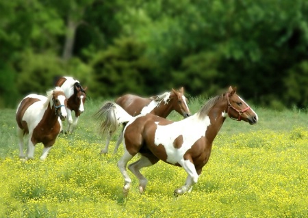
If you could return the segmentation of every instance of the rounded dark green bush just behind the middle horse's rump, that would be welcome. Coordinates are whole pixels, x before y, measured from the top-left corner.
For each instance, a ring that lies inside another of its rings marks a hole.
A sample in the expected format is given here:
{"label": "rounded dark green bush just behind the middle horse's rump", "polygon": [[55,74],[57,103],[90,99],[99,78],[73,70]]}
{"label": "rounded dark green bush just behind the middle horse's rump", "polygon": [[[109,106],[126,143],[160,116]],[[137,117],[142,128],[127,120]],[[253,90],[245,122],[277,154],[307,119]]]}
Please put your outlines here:
{"label": "rounded dark green bush just behind the middle horse's rump", "polygon": [[143,53],[144,46],[133,38],[116,40],[113,46],[97,53],[92,63],[97,94],[116,96],[127,90],[146,93],[144,83],[146,77],[151,77],[151,62]]}

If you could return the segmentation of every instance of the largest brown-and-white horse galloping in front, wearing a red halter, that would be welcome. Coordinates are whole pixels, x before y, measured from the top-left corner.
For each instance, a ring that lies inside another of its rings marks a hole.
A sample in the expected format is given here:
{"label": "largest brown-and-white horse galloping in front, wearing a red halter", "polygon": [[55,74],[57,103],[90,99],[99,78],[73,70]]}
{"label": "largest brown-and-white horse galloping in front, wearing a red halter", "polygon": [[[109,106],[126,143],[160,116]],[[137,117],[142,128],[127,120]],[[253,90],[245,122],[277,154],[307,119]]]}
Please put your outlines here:
{"label": "largest brown-and-white horse galloping in front, wearing a red halter", "polygon": [[258,121],[257,113],[235,92],[236,87],[229,87],[228,92],[209,99],[197,113],[179,122],[150,113],[132,117],[120,106],[105,103],[105,107],[110,109],[101,113],[102,132],[109,130],[110,125],[127,122],[123,133],[125,152],[118,161],[118,168],[125,178],[123,193],[127,195],[131,185],[127,163],[137,153],[141,154],[140,159],[128,168],[140,182],[140,193],[144,192],[147,183],[140,169],[159,160],[183,167],[188,173],[185,185],[175,189],[175,195],[190,192],[209,160],[212,143],[227,116],[249,124]]}

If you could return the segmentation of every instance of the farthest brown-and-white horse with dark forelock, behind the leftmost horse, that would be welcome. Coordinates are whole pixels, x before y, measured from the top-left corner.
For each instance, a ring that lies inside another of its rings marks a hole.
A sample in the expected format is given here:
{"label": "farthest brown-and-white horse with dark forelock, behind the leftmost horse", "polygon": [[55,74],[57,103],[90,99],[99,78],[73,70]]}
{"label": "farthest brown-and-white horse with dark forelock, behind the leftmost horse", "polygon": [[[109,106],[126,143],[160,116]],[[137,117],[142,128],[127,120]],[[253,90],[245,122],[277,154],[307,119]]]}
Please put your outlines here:
{"label": "farthest brown-and-white horse with dark forelock, behind the leftmost horse", "polygon": [[[68,125],[65,133],[73,133],[81,113],[84,113],[84,102],[86,100],[87,87],[83,88],[79,81],[73,77],[60,77],[55,86],[62,87],[67,98],[67,120]],[[72,111],[75,111],[75,120],[72,117]]]}

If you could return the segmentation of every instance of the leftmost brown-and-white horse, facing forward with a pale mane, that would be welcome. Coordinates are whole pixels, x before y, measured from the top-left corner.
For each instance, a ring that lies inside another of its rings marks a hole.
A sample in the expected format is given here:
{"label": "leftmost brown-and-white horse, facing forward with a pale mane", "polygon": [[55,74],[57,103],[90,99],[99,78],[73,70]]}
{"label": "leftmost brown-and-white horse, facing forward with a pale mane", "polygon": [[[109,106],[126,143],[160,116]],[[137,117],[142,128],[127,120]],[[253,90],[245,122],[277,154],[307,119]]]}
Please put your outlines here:
{"label": "leftmost brown-and-white horse, facing forward with a pale mane", "polygon": [[[61,120],[66,118],[66,98],[60,87],[47,92],[47,96],[29,94],[16,110],[19,156],[34,158],[35,145],[42,142],[44,149],[41,160],[46,159],[57,135],[62,130]],[[29,135],[27,154],[23,152],[23,136]]]}

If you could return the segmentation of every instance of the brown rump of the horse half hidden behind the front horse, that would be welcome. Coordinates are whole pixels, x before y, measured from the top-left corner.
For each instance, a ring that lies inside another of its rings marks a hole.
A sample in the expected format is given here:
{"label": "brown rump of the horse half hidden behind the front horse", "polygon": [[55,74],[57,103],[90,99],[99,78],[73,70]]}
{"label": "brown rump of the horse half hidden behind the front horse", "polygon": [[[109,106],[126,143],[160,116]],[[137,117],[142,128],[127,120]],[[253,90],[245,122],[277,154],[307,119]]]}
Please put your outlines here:
{"label": "brown rump of the horse half hidden behind the front horse", "polygon": [[125,94],[116,99],[116,103],[120,105],[127,113],[132,116],[139,115],[144,107],[151,103],[151,99],[142,98],[133,94]]}

